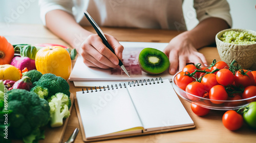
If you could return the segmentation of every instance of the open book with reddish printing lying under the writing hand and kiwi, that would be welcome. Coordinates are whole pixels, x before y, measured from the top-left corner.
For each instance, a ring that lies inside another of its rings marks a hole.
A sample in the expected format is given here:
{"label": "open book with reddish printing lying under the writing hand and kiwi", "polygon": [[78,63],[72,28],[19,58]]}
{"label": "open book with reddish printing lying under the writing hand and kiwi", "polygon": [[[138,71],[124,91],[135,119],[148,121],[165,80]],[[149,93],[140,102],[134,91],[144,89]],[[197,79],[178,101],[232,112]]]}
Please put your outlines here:
{"label": "open book with reddish printing lying under the writing hand and kiwi", "polygon": [[133,80],[152,79],[162,77],[162,79],[172,80],[173,76],[168,70],[159,75],[149,75],[141,70],[138,63],[138,56],[145,47],[154,47],[163,51],[168,43],[156,42],[120,42],[124,46],[122,62],[131,77],[128,77],[120,68],[100,69],[88,67],[83,63],[83,58],[79,55],[71,72],[69,81],[73,81],[75,87],[99,87],[108,84],[125,83]]}

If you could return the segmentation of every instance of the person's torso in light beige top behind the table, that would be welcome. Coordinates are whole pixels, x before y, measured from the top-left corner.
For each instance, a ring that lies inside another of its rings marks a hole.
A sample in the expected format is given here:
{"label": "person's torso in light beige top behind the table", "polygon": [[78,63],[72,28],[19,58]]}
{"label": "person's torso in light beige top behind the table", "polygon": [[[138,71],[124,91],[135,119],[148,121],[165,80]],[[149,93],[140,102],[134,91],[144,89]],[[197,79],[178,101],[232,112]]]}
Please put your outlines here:
{"label": "person's torso in light beige top behind the table", "polygon": [[[84,6],[82,9],[99,26],[186,30],[182,0],[87,0],[84,3],[79,5]],[[74,14],[80,25],[90,26],[83,14]]]}

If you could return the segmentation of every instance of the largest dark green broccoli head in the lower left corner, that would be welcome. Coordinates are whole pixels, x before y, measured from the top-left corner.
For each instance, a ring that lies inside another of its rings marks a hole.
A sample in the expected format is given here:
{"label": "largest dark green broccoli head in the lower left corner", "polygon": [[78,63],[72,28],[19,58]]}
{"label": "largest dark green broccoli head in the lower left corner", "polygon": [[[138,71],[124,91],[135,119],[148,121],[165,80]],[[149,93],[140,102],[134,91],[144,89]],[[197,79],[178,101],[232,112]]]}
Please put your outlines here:
{"label": "largest dark green broccoli head in the lower left corner", "polygon": [[33,131],[48,124],[50,106],[35,92],[24,89],[12,89],[8,94],[8,115],[10,129],[18,138],[30,135]]}

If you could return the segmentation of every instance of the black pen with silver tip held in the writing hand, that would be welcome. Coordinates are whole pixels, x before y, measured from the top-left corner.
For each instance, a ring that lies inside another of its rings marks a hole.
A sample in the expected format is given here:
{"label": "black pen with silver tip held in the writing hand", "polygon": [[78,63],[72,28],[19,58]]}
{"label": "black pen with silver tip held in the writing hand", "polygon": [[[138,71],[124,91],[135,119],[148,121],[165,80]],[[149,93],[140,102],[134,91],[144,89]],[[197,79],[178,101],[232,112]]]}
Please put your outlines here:
{"label": "black pen with silver tip held in the writing hand", "polygon": [[[84,15],[86,15],[86,18],[89,20],[89,22],[91,23],[91,25],[93,26],[93,28],[95,29],[95,31],[97,32],[97,34],[99,35],[99,37],[102,39],[103,43],[105,44],[106,47],[108,47],[108,49],[113,52],[115,54],[114,49],[112,49],[112,47],[110,46],[109,42],[106,40],[106,37],[104,35],[104,33],[102,32],[102,30],[99,28],[99,26],[97,25],[97,23],[93,20],[93,18],[90,16],[90,14],[87,11],[83,11]],[[125,69],[122,61],[120,59],[118,65],[123,69],[124,73],[129,76],[127,70]],[[130,77],[130,76],[129,76]]]}

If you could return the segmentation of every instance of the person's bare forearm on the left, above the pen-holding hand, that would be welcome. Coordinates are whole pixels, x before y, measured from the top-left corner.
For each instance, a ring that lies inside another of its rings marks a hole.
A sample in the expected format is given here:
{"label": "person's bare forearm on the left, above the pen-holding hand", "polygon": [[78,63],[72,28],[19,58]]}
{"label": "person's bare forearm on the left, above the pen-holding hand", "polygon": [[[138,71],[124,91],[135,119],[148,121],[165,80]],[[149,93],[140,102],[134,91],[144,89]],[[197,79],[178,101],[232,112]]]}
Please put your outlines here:
{"label": "person's bare forearm on the left, above the pen-holding hand", "polygon": [[74,48],[78,48],[91,32],[83,29],[73,15],[53,10],[46,14],[46,27]]}

